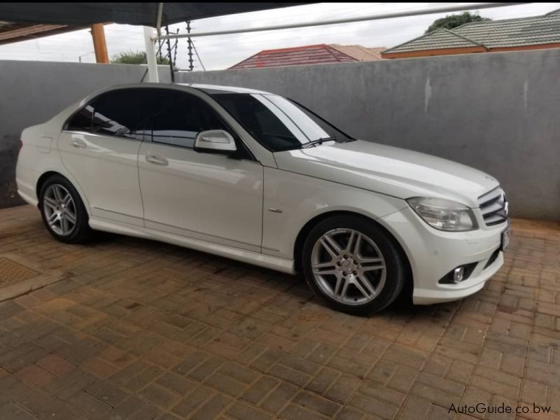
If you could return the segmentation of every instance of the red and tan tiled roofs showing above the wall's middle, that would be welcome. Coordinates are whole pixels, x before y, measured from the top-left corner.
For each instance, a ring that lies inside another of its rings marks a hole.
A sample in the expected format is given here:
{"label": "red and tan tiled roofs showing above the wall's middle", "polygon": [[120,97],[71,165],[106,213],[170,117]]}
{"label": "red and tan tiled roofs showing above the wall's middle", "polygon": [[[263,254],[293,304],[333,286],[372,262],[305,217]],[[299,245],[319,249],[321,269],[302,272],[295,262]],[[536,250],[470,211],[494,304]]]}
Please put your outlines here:
{"label": "red and tan tiled roofs showing above the wall's middle", "polygon": [[362,45],[317,44],[262,50],[231,66],[230,69],[374,61],[382,59],[381,51],[384,49],[365,48]]}

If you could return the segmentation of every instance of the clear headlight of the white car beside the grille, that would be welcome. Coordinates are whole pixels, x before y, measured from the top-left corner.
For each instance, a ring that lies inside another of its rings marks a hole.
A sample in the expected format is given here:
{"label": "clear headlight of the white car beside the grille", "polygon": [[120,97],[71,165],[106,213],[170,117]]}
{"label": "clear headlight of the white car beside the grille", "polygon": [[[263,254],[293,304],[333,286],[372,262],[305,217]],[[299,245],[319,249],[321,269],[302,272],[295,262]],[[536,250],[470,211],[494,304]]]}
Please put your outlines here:
{"label": "clear headlight of the white car beside the grille", "polygon": [[477,227],[475,215],[465,204],[430,197],[412,197],[407,199],[407,202],[432,228],[464,232]]}

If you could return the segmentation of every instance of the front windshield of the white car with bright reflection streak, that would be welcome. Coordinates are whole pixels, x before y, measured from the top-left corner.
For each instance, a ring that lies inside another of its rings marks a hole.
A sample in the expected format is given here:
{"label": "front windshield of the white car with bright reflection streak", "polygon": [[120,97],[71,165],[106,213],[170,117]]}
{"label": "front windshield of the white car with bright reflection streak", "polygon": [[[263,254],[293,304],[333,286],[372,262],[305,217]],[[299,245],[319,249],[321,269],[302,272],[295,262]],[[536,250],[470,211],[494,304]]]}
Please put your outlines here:
{"label": "front windshield of the white car with bright reflection streak", "polygon": [[351,139],[303,106],[276,94],[218,93],[211,95],[262,146],[273,152],[305,144]]}

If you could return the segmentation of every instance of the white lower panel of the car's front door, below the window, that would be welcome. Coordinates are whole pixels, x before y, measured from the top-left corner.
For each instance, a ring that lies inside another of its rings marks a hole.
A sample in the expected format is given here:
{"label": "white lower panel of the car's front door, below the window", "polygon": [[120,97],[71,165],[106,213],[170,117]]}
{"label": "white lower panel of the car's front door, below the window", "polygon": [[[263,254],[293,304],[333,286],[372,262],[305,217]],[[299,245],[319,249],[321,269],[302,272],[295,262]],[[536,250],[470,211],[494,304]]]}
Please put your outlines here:
{"label": "white lower panel of the car's front door, below the window", "polygon": [[138,167],[146,228],[260,252],[259,162],[145,141]]}

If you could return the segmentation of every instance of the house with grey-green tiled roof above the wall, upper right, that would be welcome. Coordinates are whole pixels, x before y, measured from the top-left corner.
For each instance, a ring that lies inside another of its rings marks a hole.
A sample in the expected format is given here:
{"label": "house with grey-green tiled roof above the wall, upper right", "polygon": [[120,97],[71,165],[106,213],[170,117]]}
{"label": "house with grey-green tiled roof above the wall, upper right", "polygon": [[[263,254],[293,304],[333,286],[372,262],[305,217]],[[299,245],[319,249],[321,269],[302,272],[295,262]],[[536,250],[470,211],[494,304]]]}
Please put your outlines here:
{"label": "house with grey-green tiled roof above the wall, upper right", "polygon": [[470,22],[437,29],[381,52],[383,58],[428,57],[560,48],[560,9],[542,16]]}

